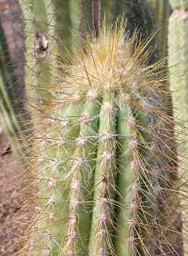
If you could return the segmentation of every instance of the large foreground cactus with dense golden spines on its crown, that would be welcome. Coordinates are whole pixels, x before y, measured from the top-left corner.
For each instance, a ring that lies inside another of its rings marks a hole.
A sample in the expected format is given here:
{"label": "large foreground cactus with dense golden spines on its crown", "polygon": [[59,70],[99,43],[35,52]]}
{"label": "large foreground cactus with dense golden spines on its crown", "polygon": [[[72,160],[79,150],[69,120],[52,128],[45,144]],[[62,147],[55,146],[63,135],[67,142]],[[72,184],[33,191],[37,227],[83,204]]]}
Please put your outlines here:
{"label": "large foreground cactus with dense golden spines on its crown", "polygon": [[124,31],[88,35],[49,107],[33,103],[24,255],[183,255],[166,63],[147,66],[152,37]]}

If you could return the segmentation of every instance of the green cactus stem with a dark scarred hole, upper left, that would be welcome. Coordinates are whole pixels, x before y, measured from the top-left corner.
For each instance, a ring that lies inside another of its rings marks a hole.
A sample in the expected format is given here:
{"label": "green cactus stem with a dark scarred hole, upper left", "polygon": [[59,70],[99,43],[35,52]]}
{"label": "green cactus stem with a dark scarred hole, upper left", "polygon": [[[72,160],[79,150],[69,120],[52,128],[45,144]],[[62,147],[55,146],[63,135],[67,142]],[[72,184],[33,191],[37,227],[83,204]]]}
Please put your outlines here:
{"label": "green cactus stem with a dark scarred hole, upper left", "polygon": [[48,106],[53,98],[58,43],[55,7],[51,1],[20,2],[26,20],[26,86],[29,100],[37,109],[38,105]]}

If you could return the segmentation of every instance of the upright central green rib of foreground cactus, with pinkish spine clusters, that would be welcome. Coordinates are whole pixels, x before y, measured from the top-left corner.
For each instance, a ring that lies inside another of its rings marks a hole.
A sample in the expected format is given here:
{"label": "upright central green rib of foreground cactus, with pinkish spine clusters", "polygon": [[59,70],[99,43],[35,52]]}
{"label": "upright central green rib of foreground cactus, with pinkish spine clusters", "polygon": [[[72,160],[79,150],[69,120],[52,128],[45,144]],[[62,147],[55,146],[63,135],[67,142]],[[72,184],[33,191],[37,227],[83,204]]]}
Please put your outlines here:
{"label": "upright central green rib of foreground cactus, with pinkish spine clusters", "polygon": [[96,159],[89,255],[114,254],[111,240],[117,174],[114,92],[109,89],[104,91],[99,115],[99,145]]}

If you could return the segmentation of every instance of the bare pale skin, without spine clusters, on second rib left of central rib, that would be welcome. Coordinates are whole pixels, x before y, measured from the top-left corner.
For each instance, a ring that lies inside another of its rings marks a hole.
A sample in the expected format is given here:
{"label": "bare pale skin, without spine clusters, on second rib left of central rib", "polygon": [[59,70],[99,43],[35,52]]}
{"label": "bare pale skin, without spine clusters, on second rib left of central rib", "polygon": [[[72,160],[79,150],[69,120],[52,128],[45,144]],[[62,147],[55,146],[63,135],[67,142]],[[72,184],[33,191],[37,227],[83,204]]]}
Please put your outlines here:
{"label": "bare pale skin, without spine clusters, on second rib left of central rib", "polygon": [[[60,111],[56,114],[56,119],[65,119],[67,118],[68,121],[73,125],[77,122],[77,118],[71,118],[71,116],[80,116],[82,103],[80,105],[77,104],[76,108],[67,107],[64,111]],[[59,122],[56,122],[55,125],[50,126],[47,128],[45,133],[53,134],[57,140],[49,140],[44,147],[44,150],[41,152],[41,156],[44,157],[45,162],[41,163],[38,168],[42,168],[42,177],[44,179],[43,182],[39,183],[39,190],[46,191],[41,199],[38,199],[38,205],[41,205],[41,215],[38,216],[38,230],[35,235],[35,241],[37,245],[33,253],[38,255],[43,251],[45,248],[50,249],[50,253],[53,255],[59,255],[61,253],[62,248],[65,245],[65,236],[67,235],[67,229],[62,228],[61,226],[66,226],[66,219],[68,218],[68,195],[70,190],[70,183],[65,180],[65,176],[68,173],[69,169],[68,162],[70,156],[74,153],[74,139],[79,134],[79,126],[74,126],[74,129],[71,127],[63,128],[65,134],[62,134],[65,140],[70,140],[71,143],[68,144],[68,151],[64,150],[64,147],[59,147],[56,141],[61,139],[61,136],[58,137],[56,131],[59,131],[61,125]],[[40,146],[40,144],[39,144]],[[66,146],[67,147],[67,146]],[[56,161],[60,162],[59,167],[55,165]],[[54,164],[53,164],[54,162]],[[51,167],[49,167],[51,166]],[[53,174],[52,174],[53,171]],[[56,186],[48,188],[48,183],[50,181],[50,177],[56,180]],[[53,197],[54,203],[53,205],[48,206],[48,202],[50,197]],[[54,219],[49,221],[48,216],[49,213],[52,212]],[[44,237],[44,233],[50,230],[50,239]]]}

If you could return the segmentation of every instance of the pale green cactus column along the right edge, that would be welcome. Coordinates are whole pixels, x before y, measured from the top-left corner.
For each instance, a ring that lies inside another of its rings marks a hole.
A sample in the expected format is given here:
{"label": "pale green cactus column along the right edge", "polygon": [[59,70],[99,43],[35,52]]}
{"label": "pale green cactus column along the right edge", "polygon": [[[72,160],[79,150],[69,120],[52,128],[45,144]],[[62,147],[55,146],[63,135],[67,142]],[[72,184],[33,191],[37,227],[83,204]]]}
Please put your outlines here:
{"label": "pale green cactus column along the right edge", "polygon": [[[187,26],[188,26],[188,6],[187,1],[170,1],[174,11],[169,19],[168,33],[168,66],[170,71],[170,84],[172,91],[172,99],[174,103],[174,118],[179,124],[175,127],[177,140],[180,141],[180,175],[183,184],[186,184],[186,122],[187,122]],[[183,208],[183,230],[186,230],[187,223],[187,200],[186,186],[183,187],[181,205]],[[187,254],[187,234],[183,233],[184,250]]]}

